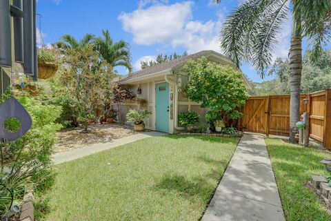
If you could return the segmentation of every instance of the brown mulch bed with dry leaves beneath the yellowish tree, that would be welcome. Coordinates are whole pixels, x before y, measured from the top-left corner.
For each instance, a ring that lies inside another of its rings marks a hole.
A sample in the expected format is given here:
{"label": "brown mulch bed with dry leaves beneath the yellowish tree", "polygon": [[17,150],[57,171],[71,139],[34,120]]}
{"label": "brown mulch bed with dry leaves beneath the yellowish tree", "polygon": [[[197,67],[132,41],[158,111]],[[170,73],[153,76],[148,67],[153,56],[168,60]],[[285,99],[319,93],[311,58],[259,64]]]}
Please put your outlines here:
{"label": "brown mulch bed with dry leaves beneath the yellowish tree", "polygon": [[58,142],[54,146],[54,153],[71,151],[92,144],[112,142],[122,137],[134,134],[132,128],[119,124],[92,124],[90,133],[81,133],[83,128],[72,128],[57,133]]}

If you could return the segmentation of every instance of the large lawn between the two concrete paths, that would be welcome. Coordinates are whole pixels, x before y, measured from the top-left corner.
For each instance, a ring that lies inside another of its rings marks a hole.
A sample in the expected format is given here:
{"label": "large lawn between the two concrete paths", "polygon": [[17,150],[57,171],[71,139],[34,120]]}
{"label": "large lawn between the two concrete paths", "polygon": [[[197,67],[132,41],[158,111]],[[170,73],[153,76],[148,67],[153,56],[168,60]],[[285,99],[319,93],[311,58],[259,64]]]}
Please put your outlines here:
{"label": "large lawn between the two concrete paths", "polygon": [[43,220],[199,220],[237,142],[168,135],[56,166]]}

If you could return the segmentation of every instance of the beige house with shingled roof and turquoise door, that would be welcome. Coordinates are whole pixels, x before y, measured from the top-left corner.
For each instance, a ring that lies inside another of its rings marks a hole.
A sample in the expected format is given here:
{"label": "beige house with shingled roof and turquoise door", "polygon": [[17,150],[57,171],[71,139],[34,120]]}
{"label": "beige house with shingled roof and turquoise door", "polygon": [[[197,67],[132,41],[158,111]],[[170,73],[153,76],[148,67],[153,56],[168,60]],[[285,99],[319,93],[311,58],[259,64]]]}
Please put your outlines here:
{"label": "beige house with shingled roof and turquoise door", "polygon": [[[213,50],[203,50],[139,70],[119,81],[119,86],[129,88],[132,92],[137,91],[137,97],[147,99],[148,104],[144,108],[152,114],[145,122],[146,128],[153,131],[178,133],[184,128],[178,124],[177,116],[189,110],[199,113],[201,121],[205,121],[205,113],[208,109],[201,108],[200,104],[190,101],[181,93],[183,86],[188,83],[188,73],[183,72],[183,66],[188,60],[199,57],[206,57],[210,61],[237,69],[235,64],[224,55]],[[243,83],[250,88],[245,75],[243,75]],[[133,108],[141,107],[134,101],[123,104],[121,106],[122,119]]]}

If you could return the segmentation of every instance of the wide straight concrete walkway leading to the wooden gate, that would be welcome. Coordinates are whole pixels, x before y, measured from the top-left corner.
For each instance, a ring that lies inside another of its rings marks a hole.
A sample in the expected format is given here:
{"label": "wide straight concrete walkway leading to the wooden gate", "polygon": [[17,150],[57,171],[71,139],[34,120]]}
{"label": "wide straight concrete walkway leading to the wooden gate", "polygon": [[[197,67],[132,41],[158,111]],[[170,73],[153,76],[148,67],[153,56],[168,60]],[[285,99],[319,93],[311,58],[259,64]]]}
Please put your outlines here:
{"label": "wide straight concrete walkway leading to the wooden gate", "polygon": [[245,135],[234,152],[202,221],[285,221],[261,135]]}

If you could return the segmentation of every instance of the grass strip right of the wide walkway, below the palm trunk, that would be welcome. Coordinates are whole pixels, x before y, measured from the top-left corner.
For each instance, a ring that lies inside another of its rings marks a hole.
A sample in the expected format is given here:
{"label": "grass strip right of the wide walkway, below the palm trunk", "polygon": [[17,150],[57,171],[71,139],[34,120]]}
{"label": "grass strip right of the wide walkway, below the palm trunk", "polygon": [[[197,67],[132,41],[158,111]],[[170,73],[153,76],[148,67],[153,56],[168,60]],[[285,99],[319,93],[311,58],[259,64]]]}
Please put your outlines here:
{"label": "grass strip right of the wide walkway, below the palm trunk", "polygon": [[292,220],[331,220],[316,195],[305,187],[310,175],[328,175],[319,161],[331,158],[327,151],[266,139],[285,218]]}

